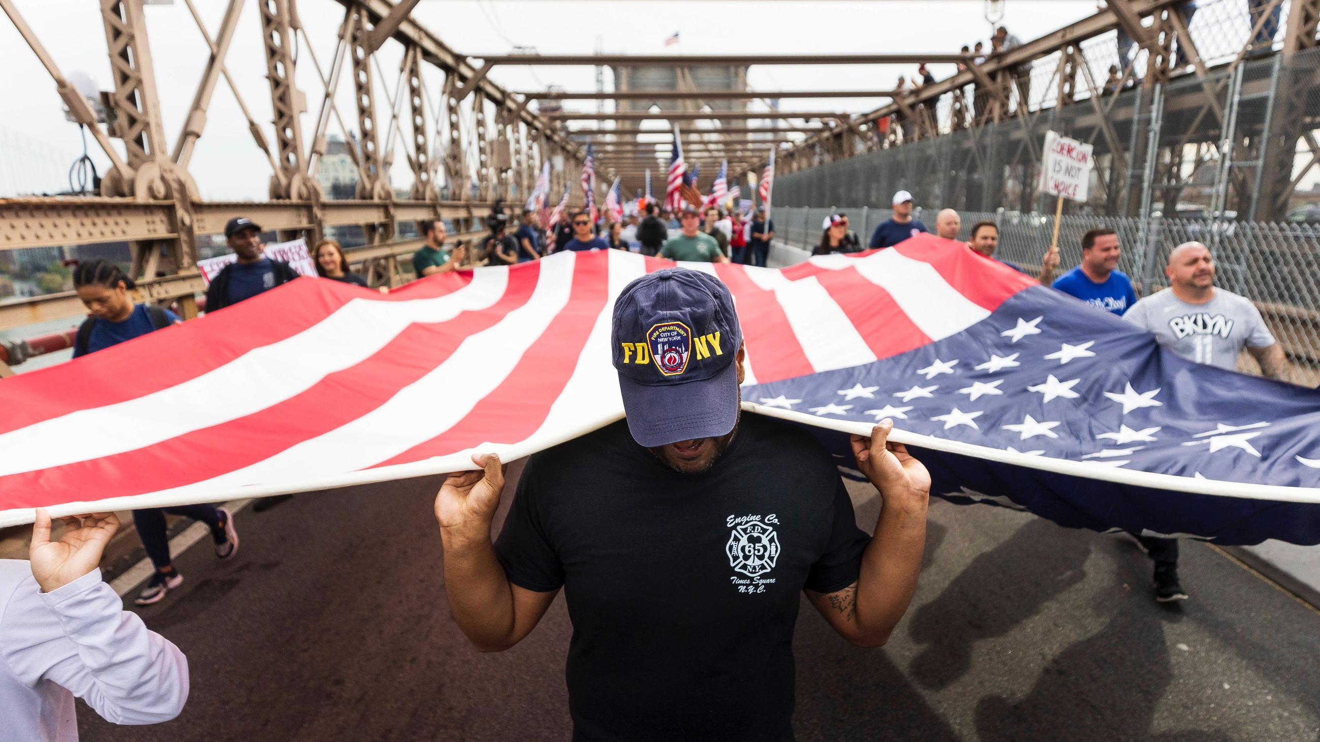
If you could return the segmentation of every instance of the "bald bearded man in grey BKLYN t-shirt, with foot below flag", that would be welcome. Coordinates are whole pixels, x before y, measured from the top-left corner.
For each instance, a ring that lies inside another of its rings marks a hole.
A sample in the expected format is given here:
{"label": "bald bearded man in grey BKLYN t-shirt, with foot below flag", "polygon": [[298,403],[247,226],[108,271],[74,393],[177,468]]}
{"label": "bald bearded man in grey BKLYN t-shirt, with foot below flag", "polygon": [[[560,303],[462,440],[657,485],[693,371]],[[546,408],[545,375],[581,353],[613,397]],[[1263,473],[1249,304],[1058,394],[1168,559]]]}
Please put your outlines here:
{"label": "bald bearded man in grey BKLYN t-shirt, with foot below flag", "polygon": [[[1164,268],[1170,288],[1138,301],[1123,320],[1155,333],[1160,346],[1196,363],[1233,370],[1246,351],[1270,379],[1288,380],[1283,349],[1246,297],[1214,288],[1214,257],[1199,242],[1173,248]],[[1155,562],[1155,599],[1184,601],[1177,581],[1177,540],[1138,536]]]}

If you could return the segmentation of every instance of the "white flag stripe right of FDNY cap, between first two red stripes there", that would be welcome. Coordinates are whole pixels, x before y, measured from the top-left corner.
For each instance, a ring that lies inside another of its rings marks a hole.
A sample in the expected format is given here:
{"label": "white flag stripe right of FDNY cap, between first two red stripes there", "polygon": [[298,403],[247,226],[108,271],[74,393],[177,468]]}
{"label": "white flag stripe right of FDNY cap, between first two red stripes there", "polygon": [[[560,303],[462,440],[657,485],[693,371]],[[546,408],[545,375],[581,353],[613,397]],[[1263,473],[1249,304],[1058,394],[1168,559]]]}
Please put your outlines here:
{"label": "white flag stripe right of FDNY cap, between first two red stripes there", "polygon": [[875,363],[870,346],[816,276],[776,288],[775,300],[817,374]]}

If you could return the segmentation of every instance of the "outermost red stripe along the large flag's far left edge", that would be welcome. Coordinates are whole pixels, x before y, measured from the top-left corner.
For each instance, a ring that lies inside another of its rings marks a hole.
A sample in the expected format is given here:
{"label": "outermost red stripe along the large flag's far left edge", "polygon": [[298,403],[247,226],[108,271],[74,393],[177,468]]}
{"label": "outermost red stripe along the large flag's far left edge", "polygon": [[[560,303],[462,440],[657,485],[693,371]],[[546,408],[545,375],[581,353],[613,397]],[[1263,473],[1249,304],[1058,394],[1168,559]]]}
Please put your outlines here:
{"label": "outermost red stripe along the large flag's far left edge", "polygon": [[133,338],[71,363],[22,374],[0,384],[0,433],[79,409],[119,404],[181,384],[255,347],[290,338],[354,298],[403,301],[444,296],[471,281],[471,272],[416,281],[381,296],[331,280],[290,281],[174,327]]}

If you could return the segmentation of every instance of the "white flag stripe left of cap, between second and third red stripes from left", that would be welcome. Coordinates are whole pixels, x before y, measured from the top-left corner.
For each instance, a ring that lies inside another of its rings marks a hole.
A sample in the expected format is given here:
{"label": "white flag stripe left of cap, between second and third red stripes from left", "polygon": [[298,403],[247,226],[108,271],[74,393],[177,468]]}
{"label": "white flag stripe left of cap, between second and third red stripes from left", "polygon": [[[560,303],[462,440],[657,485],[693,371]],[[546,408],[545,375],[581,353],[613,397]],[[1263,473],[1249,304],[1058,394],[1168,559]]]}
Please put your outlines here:
{"label": "white flag stripe left of cap, between second and third red stripes from left", "polygon": [[576,253],[570,251],[541,260],[541,275],[527,304],[465,338],[444,363],[376,409],[264,461],[169,492],[356,471],[449,430],[504,382],[568,304],[574,260]]}

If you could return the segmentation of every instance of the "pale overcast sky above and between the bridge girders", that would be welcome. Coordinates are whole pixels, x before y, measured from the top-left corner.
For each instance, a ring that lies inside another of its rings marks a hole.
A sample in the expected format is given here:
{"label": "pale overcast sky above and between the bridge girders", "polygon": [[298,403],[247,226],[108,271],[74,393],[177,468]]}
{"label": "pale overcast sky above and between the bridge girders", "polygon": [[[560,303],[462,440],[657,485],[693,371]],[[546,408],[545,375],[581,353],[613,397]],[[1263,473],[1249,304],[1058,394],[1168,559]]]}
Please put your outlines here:
{"label": "pale overcast sky above and between the bridge girders", "polygon": [[[100,90],[111,88],[106,33],[95,0],[15,1],[66,75],[82,71],[91,75]],[[194,3],[214,36],[226,3]],[[1002,22],[1027,41],[1094,9],[1093,0],[1007,0]],[[182,0],[173,5],[149,5],[145,12],[165,132],[173,148],[201,79],[207,49]],[[300,0],[298,13],[312,38],[312,51],[325,67],[334,50],[343,7],[334,0]],[[457,51],[474,55],[507,54],[515,45],[535,46],[543,54],[590,54],[597,49],[598,37],[605,51],[622,54],[949,54],[957,53],[964,44],[986,41],[990,34],[983,4],[975,0],[424,0],[413,17]],[[665,46],[665,38],[675,32],[680,34],[680,44]],[[310,108],[302,125],[310,139],[323,87],[310,55],[306,50],[300,54],[298,87],[306,94]],[[379,78],[376,81],[381,133],[389,120],[384,92],[393,90],[401,55],[403,48],[392,41],[379,53],[387,75],[384,87]],[[69,157],[71,161],[82,149],[78,127],[65,120],[54,83],[7,20],[0,20],[0,62],[5,70],[0,127],[24,141],[49,147],[55,160]],[[273,145],[271,94],[255,3],[247,3],[243,9],[227,66]],[[898,75],[911,77],[915,69],[915,65],[754,66],[748,84],[759,91],[884,90],[894,86]],[[932,71],[936,78],[944,78],[953,70],[932,66]],[[569,91],[595,90],[594,67],[499,67],[491,78],[516,91],[544,90],[550,84]],[[438,98],[440,81],[438,73],[426,81],[432,100]],[[606,71],[606,87],[611,83]],[[781,108],[863,112],[882,103],[879,99],[785,99]],[[355,127],[347,74],[337,104],[346,123]],[[594,111],[595,102],[569,102],[565,107]],[[331,123],[330,133],[338,131]],[[95,151],[92,157],[104,172],[108,161]],[[269,165],[252,143],[242,111],[224,82],[216,87],[190,172],[209,201],[267,197]],[[396,186],[412,182],[401,153],[395,157],[392,182]]]}

